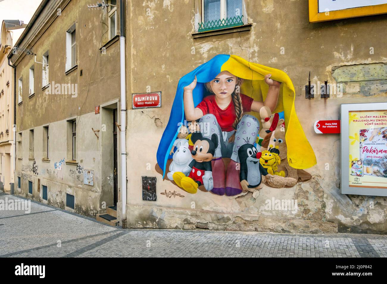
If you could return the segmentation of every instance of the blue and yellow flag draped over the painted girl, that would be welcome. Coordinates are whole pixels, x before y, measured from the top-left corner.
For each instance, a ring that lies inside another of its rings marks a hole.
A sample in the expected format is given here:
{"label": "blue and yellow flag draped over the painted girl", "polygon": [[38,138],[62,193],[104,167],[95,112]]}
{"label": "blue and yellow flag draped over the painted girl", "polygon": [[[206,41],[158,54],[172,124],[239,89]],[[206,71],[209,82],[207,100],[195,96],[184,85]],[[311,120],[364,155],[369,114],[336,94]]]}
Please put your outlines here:
{"label": "blue and yellow flag draped over the painted girl", "polygon": [[[233,75],[243,78],[241,93],[260,102],[266,99],[269,90],[269,86],[264,81],[265,75],[271,74],[272,79],[282,82],[277,107],[273,113],[284,112],[289,165],[293,168],[305,169],[316,164],[313,149],[296,115],[295,90],[289,76],[281,70],[251,63],[236,55],[219,54],[179,80],[170,119],[157,150],[157,162],[164,175],[166,162],[168,158],[171,158],[169,151],[178,134],[179,123],[183,123],[185,120],[183,88],[192,83],[195,76],[197,77],[197,84],[193,92],[194,105],[196,106],[203,99],[204,83],[214,79],[221,71],[229,71]],[[259,117],[259,113],[254,114]]]}

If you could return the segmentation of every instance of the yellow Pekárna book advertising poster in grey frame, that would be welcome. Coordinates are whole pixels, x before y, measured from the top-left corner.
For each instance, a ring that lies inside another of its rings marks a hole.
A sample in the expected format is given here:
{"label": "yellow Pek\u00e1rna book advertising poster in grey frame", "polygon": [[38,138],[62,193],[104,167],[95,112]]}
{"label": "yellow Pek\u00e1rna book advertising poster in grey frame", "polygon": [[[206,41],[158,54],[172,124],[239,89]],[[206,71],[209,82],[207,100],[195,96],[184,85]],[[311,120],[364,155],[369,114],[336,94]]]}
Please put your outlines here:
{"label": "yellow Pek\u00e1rna book advertising poster in grey frame", "polygon": [[387,110],[348,116],[349,187],[387,189]]}

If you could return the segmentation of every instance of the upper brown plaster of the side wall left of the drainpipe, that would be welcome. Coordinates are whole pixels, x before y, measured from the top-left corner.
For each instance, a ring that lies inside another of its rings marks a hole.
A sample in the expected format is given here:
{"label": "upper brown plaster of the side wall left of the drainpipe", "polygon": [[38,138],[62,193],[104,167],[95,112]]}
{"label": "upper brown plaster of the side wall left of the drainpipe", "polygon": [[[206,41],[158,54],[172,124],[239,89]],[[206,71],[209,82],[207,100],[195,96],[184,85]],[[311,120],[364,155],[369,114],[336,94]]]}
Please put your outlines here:
{"label": "upper brown plaster of the side wall left of the drainpipe", "polygon": [[[49,51],[49,82],[77,84],[77,96],[45,94],[45,90],[41,89],[42,65],[34,63],[33,56],[24,56],[17,65],[16,75],[17,79],[23,78],[23,104],[17,106],[17,131],[91,112],[96,105],[119,97],[118,42],[106,48],[106,54],[101,53],[99,49],[107,41],[103,37],[106,36],[107,27],[100,23],[102,13],[89,11],[87,3],[83,0],[70,1],[67,6],[62,7],[61,15],[47,27],[38,41],[33,46],[28,46],[33,48],[37,54],[36,61],[39,62],[42,62],[43,54]],[[66,75],[66,31],[74,22],[78,67]],[[25,46],[26,43],[21,44]],[[28,98],[29,68],[33,64],[35,95]]]}

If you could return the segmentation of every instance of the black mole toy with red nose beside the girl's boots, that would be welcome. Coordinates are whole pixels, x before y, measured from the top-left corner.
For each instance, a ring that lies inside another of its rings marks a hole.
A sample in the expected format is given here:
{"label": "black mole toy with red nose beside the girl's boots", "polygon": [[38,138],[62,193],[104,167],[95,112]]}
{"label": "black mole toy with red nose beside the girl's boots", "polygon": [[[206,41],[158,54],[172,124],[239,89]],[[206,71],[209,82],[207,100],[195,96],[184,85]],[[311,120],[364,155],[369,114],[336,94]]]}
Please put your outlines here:
{"label": "black mole toy with red nose beside the girl's boots", "polygon": [[263,176],[271,177],[264,167],[259,163],[262,153],[257,151],[257,148],[252,144],[240,146],[238,157],[240,161],[239,179],[242,189],[246,191],[255,191],[262,188],[261,182],[265,182]]}

